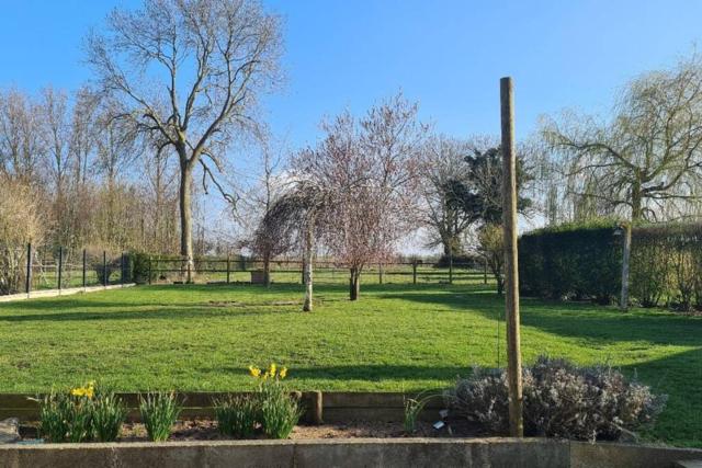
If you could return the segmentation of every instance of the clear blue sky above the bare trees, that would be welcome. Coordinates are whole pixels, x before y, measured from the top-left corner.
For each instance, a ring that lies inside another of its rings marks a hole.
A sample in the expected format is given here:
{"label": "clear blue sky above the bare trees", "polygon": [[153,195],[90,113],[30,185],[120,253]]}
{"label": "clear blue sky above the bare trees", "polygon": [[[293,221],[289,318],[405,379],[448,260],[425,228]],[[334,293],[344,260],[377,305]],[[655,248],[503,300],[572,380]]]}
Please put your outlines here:
{"label": "clear blue sky above the bare trees", "polygon": [[[0,88],[75,89],[81,42],[136,0],[0,0]],[[290,146],[324,115],[403,89],[454,136],[498,132],[498,80],[516,81],[517,134],[563,107],[605,111],[637,73],[675,64],[702,34],[699,1],[267,0],[285,19],[285,88],[265,116]]]}

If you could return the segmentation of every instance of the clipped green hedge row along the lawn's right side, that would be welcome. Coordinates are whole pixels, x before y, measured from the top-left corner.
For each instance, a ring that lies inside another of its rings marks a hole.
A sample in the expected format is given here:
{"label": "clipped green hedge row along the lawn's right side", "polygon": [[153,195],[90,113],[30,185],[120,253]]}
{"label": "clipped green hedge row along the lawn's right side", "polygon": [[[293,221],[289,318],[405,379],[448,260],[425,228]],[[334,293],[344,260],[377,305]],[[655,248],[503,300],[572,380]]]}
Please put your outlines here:
{"label": "clipped green hedge row along the lawn's right side", "polygon": [[[622,231],[615,221],[562,225],[520,238],[522,293],[613,301],[621,290]],[[644,307],[702,309],[702,225],[632,230],[630,293]]]}

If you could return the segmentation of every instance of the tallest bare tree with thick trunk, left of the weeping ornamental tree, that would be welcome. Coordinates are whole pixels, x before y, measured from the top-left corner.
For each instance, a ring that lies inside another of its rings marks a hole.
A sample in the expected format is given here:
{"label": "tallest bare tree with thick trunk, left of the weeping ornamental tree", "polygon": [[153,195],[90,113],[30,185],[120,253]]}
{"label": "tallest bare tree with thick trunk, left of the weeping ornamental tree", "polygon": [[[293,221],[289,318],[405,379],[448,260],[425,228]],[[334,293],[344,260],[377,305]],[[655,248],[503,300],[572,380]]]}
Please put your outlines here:
{"label": "tallest bare tree with thick trunk, left of the weeping ornamental tree", "polygon": [[192,182],[217,181],[236,130],[254,125],[261,91],[278,80],[280,21],[257,0],[145,0],[92,33],[88,59],[122,115],[172,146],[180,168],[181,254],[193,270]]}

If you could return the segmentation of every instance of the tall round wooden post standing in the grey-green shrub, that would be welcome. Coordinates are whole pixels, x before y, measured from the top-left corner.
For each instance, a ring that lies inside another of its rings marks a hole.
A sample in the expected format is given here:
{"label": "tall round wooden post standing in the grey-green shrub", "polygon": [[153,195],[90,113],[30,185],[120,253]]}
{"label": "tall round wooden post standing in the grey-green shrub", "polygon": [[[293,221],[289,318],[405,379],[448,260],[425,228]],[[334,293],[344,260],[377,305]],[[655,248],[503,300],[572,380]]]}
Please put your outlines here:
{"label": "tall round wooden post standing in the grey-green shrub", "polygon": [[519,336],[519,259],[517,253],[517,158],[514,155],[514,99],[512,79],[500,80],[502,124],[502,225],[505,229],[505,312],[507,316],[507,374],[509,432],[524,436],[522,357]]}

